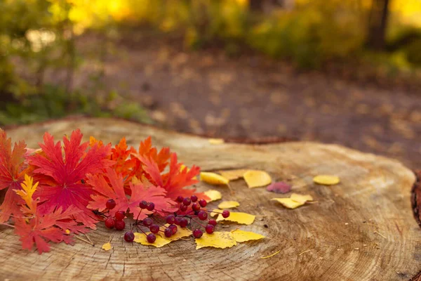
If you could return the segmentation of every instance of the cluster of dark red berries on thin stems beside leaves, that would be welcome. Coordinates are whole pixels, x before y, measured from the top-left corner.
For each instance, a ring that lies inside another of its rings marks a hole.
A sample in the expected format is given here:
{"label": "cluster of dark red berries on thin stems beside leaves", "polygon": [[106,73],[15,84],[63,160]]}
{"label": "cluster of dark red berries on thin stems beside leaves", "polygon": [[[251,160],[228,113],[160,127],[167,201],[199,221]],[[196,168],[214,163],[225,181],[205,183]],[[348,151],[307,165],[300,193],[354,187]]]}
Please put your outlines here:
{"label": "cluster of dark red berries on thin stems beside leaves", "polygon": [[[133,223],[133,226],[136,228],[136,230],[140,230],[146,235],[147,242],[155,242],[156,234],[159,232],[162,232],[166,237],[171,237],[178,232],[178,227],[187,228],[187,226],[199,226],[193,230],[193,236],[195,238],[200,238],[203,235],[203,230],[200,229],[200,226],[204,228],[208,234],[212,234],[215,231],[217,222],[212,218],[208,219],[209,211],[202,209],[207,205],[206,200],[199,200],[196,195],[192,195],[191,197],[178,196],[176,201],[180,203],[178,206],[178,211],[175,211],[172,214],[168,214],[168,216],[161,216],[155,210],[155,204],[153,202],[146,202],[144,200],[139,203],[140,209],[154,211],[147,218],[144,218],[141,221],[136,218],[135,223]],[[106,203],[106,207],[109,210],[114,209],[115,206],[116,202],[112,199],[108,200]],[[224,210],[221,214],[224,218],[227,218],[229,216],[229,211]],[[109,216],[105,220],[105,226],[110,229],[116,228],[116,230],[123,230],[123,228],[126,226],[126,223],[123,221],[125,217],[126,215],[124,211],[117,211],[114,217]],[[199,220],[197,220],[197,218]],[[168,225],[163,227],[165,223]],[[206,225],[203,223],[206,223]],[[150,233],[147,234],[145,230],[142,229],[142,227],[147,228]],[[162,230],[162,228],[164,229]],[[129,230],[124,234],[124,240],[127,242],[133,242],[134,239],[135,235],[132,230]]]}

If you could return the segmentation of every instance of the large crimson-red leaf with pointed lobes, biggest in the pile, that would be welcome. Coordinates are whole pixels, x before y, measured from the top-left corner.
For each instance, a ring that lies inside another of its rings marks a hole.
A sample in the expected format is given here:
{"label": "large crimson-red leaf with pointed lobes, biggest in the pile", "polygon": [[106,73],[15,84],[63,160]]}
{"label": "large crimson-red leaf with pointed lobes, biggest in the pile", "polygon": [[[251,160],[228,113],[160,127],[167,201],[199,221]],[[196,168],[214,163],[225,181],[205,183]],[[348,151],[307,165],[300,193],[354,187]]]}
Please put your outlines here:
{"label": "large crimson-red leaf with pointed lobes, biggest in the pile", "polygon": [[[93,145],[81,143],[82,133],[78,129],[70,138],[63,138],[64,148],[60,141],[54,143],[49,133],[44,134],[44,143],[39,143],[42,153],[29,156],[29,164],[34,166],[34,176],[39,178],[40,198],[39,211],[48,214],[51,209],[66,210],[70,206],[81,210],[74,218],[85,226],[95,229],[98,220],[86,206],[91,200],[93,190],[82,183],[86,174],[102,173],[103,169],[114,162],[108,159],[110,145]],[[64,155],[62,153],[64,150]],[[87,151],[86,151],[87,150]]]}

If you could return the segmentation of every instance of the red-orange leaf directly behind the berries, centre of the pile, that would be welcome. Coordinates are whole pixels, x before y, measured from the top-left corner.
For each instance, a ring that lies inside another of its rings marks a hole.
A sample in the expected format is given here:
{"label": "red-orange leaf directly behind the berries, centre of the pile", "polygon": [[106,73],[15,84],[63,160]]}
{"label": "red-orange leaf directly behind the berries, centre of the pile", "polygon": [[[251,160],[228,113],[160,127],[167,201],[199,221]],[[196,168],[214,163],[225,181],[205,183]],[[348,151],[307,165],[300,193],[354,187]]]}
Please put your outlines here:
{"label": "red-orange leaf directly behind the berries, centre of the pile", "polygon": [[106,209],[105,204],[107,200],[113,199],[116,202],[116,207],[109,210],[109,214],[114,216],[116,211],[127,211],[133,214],[134,218],[143,219],[147,214],[152,214],[153,211],[140,209],[139,203],[142,200],[147,202],[154,202],[155,210],[162,216],[166,216],[168,212],[177,211],[175,205],[177,203],[173,200],[166,198],[166,191],[163,188],[150,186],[145,188],[142,183],[130,183],[131,196],[126,196],[124,192],[124,181],[121,174],[116,174],[113,169],[107,169],[106,178],[102,175],[87,176],[86,183],[92,185],[93,189],[97,192],[91,195],[92,201],[88,204],[88,208],[98,211]]}

